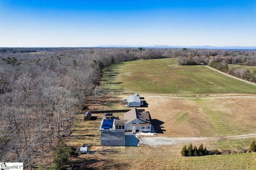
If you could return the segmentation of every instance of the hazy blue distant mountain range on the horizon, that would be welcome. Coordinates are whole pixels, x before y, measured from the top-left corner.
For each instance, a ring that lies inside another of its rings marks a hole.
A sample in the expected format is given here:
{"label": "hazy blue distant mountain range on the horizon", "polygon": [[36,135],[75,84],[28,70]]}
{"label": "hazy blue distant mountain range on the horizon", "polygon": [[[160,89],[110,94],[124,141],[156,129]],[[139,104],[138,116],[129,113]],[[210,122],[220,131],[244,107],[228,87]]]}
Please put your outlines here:
{"label": "hazy blue distant mountain range on the horizon", "polygon": [[241,47],[241,46],[224,46],[224,47],[215,47],[210,45],[205,46],[169,46],[169,45],[153,45],[153,46],[129,46],[129,45],[98,45],[96,47],[105,47],[105,48],[132,48],[132,47],[143,47],[143,48],[198,48],[198,49],[256,49],[254,47]]}

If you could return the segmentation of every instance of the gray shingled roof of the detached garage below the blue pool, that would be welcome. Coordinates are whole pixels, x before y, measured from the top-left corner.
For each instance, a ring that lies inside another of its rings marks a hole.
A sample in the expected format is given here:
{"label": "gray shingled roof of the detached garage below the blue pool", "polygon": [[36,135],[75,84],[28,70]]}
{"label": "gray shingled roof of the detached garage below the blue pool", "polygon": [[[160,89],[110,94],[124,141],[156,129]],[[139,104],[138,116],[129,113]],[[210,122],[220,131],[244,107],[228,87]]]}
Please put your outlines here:
{"label": "gray shingled roof of the detached garage below the blue pool", "polygon": [[100,140],[124,140],[125,130],[102,130]]}

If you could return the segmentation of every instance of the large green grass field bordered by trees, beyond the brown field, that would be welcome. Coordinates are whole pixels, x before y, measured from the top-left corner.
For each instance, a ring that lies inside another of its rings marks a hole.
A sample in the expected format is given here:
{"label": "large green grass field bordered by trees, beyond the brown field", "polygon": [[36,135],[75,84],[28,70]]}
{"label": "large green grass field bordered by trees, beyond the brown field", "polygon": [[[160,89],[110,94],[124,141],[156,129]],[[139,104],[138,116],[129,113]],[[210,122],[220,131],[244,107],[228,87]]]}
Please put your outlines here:
{"label": "large green grass field bordered by trees, beyond the brown field", "polygon": [[[120,62],[104,71],[102,89],[115,93],[208,95],[256,94],[256,86],[203,65],[178,65],[174,58]],[[242,89],[241,89],[242,85]]]}

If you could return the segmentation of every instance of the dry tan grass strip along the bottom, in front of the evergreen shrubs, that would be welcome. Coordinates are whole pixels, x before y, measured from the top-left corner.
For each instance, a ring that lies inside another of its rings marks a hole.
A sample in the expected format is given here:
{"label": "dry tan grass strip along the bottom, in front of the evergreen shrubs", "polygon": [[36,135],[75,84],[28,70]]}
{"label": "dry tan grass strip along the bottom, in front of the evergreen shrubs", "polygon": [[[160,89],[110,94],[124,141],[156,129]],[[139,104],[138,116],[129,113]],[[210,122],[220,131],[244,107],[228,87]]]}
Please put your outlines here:
{"label": "dry tan grass strip along the bottom, in front of the evergreen shrubs", "polygon": [[[256,153],[210,155],[200,157],[178,156],[176,145],[172,146],[139,146],[139,147],[108,147],[95,148],[94,154],[72,158],[70,169],[255,169]],[[76,168],[77,167],[77,168]]]}

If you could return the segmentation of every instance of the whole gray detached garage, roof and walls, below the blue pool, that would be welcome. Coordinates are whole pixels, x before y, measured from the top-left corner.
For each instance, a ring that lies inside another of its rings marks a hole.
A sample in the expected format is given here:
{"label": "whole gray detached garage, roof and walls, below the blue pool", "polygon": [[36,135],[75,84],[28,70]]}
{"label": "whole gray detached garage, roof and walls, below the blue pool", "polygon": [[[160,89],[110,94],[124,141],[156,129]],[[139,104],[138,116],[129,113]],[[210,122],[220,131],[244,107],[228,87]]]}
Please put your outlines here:
{"label": "whole gray detached garage, roof and walls, below the blue pool", "polygon": [[101,146],[125,146],[125,130],[102,130]]}

